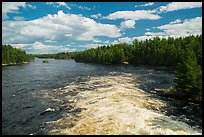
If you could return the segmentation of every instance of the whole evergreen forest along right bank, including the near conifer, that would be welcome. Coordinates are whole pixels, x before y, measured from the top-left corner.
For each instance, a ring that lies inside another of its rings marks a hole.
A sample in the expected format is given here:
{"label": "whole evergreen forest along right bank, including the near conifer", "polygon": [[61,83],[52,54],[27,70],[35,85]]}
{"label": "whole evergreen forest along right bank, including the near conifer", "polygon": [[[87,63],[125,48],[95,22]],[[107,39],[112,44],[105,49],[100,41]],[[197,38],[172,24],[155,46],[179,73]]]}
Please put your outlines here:
{"label": "whole evergreen forest along right bank, including the near conifer", "polygon": [[79,52],[38,55],[99,64],[132,64],[173,68],[177,97],[202,101],[202,35],[168,39],[155,37],[132,44],[121,43]]}

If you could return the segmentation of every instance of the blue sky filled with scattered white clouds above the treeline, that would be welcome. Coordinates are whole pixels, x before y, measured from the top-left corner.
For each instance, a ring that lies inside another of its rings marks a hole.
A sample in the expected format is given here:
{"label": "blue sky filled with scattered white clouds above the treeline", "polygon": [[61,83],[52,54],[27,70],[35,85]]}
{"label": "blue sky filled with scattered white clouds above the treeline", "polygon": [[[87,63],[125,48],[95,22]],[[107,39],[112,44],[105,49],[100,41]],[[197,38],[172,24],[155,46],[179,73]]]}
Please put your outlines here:
{"label": "blue sky filled with scattered white clouds above the treeline", "polygon": [[202,34],[202,2],[2,2],[2,44],[29,54]]}

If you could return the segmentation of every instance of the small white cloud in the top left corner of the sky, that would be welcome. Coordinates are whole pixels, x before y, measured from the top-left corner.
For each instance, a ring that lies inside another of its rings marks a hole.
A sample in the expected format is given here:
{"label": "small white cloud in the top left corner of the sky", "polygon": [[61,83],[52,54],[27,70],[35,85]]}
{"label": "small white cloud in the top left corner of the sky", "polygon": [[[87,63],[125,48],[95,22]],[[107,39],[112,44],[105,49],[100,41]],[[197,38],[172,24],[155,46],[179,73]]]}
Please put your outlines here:
{"label": "small white cloud in the top left corner of the sky", "polygon": [[25,2],[2,2],[2,18],[7,19],[8,13],[17,13],[20,7],[26,7]]}

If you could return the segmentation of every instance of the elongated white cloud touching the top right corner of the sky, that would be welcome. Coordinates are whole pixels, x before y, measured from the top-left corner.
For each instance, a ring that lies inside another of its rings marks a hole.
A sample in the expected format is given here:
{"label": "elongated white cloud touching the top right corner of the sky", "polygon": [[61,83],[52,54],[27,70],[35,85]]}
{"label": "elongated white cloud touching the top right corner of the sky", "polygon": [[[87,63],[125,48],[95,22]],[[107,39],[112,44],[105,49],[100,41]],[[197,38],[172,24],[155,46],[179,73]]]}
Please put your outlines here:
{"label": "elongated white cloud touching the top right corner of the sky", "polygon": [[157,10],[161,13],[199,7],[202,7],[202,2],[171,2],[167,6],[160,6]]}

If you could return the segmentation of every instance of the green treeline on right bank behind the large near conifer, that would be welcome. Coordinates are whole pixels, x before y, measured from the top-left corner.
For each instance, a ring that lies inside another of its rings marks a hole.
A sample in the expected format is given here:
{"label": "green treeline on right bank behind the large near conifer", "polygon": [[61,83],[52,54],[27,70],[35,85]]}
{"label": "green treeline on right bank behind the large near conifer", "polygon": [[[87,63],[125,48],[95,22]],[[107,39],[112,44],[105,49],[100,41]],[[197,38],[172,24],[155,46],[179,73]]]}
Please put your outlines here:
{"label": "green treeline on right bank behind the large near conifer", "polygon": [[75,53],[77,62],[100,64],[121,64],[129,62],[134,65],[177,66],[182,60],[186,47],[191,47],[202,63],[202,35],[185,38],[133,41],[132,44],[115,44],[88,49]]}

